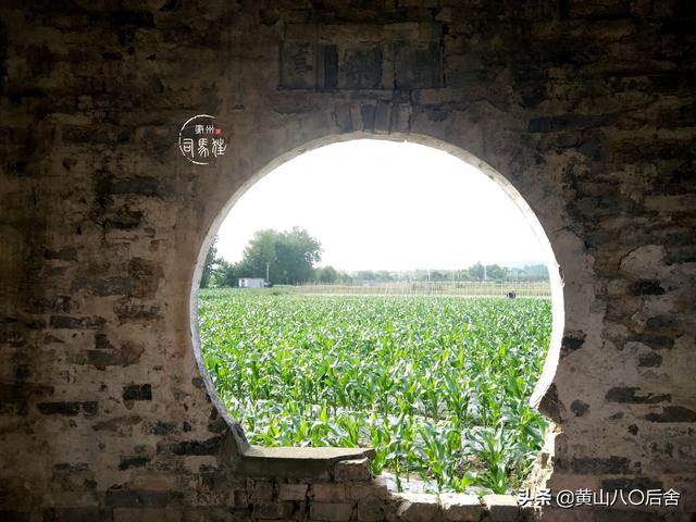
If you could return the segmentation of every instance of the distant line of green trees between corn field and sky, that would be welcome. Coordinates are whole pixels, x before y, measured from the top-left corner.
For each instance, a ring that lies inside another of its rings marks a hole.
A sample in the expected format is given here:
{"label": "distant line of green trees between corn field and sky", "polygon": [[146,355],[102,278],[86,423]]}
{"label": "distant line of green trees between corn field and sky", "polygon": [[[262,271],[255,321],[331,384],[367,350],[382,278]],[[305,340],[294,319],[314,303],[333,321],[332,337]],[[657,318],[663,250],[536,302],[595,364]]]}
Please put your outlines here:
{"label": "distant line of green trees between corn field and sky", "polygon": [[200,286],[236,287],[240,277],[260,277],[270,285],[548,279],[548,270],[544,264],[513,269],[476,263],[461,270],[361,270],[348,273],[333,266],[315,266],[321,262],[321,254],[320,241],[306,229],[298,227],[284,232],[271,228],[257,231],[244,249],[241,260],[236,263],[217,257],[214,240],[206,256]]}

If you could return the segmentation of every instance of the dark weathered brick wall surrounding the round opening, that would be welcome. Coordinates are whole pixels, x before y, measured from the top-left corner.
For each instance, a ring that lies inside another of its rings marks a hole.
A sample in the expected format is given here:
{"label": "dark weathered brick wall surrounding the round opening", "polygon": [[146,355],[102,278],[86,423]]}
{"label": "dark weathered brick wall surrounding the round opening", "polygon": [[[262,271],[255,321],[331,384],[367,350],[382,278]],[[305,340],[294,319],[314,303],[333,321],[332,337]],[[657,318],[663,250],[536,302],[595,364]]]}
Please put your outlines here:
{"label": "dark weathered brick wall surrounding the round opening", "polygon": [[[0,519],[691,520],[695,17],[649,0],[3,2]],[[214,165],[179,151],[196,114],[225,129]],[[564,323],[533,485],[673,488],[678,508],[397,499],[369,451],[246,446],[196,363],[196,264],[252,181],[355,137],[481,165],[548,236]]]}

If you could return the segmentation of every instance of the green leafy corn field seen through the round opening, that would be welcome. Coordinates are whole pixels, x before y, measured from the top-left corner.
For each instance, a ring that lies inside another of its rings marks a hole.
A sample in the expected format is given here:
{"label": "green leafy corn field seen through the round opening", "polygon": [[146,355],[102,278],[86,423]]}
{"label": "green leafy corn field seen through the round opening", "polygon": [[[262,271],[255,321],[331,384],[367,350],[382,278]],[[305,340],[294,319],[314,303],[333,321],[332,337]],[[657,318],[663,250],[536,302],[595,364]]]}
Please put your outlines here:
{"label": "green leafy corn field seen through the round opening", "polygon": [[199,295],[206,366],[252,444],[372,446],[376,474],[440,492],[529,472],[550,318],[547,299]]}

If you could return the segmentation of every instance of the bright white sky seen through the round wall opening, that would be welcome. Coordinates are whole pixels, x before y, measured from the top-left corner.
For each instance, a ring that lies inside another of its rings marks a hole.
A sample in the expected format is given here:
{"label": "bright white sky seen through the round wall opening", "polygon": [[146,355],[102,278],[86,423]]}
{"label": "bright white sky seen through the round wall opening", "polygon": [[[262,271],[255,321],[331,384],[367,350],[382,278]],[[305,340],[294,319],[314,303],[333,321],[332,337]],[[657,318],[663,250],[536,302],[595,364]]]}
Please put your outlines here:
{"label": "bright white sky seen through the round wall opening", "polygon": [[346,271],[463,269],[546,261],[502,189],[447,152],[360,139],[306,152],[241,196],[217,233],[231,262],[261,228],[307,228],[320,265]]}

